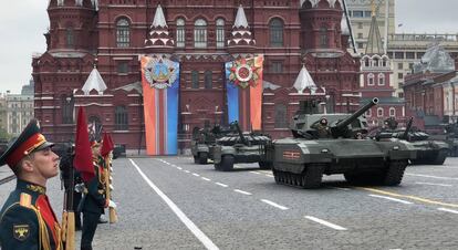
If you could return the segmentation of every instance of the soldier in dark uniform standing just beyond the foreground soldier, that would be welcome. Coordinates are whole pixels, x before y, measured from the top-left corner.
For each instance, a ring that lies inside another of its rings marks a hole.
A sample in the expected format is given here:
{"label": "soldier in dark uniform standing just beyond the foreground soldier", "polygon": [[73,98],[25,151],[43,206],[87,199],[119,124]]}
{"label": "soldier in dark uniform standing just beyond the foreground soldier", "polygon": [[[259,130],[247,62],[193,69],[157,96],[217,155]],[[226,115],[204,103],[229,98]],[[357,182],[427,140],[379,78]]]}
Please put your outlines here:
{"label": "soldier in dark uniform standing just beyond the foreground soldier", "polygon": [[83,233],[81,237],[81,250],[92,250],[92,240],[97,229],[98,219],[104,208],[108,207],[103,185],[103,160],[101,162],[101,145],[93,140],[91,143],[95,177],[86,184],[84,198],[82,200]]}

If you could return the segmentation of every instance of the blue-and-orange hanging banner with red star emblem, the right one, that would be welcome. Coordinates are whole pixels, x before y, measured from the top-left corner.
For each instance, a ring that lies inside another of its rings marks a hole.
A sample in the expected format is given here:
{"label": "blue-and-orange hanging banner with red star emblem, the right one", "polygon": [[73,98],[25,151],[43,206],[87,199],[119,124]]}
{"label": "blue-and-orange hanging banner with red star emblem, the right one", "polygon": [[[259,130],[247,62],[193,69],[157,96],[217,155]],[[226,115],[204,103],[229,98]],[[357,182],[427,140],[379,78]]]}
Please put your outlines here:
{"label": "blue-and-orange hanging banner with red star emblem, the right one", "polygon": [[238,121],[243,131],[261,129],[263,55],[226,63],[229,122]]}

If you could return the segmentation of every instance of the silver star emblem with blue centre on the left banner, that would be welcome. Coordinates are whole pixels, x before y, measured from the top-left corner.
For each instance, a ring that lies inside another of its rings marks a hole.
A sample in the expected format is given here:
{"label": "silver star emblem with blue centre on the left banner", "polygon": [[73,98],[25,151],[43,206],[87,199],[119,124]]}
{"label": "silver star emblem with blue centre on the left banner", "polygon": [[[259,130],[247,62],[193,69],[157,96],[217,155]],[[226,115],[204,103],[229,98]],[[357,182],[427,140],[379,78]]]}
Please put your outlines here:
{"label": "silver star emblem with blue centre on the left banner", "polygon": [[152,87],[164,90],[176,81],[174,62],[166,59],[152,59],[145,66],[145,79]]}

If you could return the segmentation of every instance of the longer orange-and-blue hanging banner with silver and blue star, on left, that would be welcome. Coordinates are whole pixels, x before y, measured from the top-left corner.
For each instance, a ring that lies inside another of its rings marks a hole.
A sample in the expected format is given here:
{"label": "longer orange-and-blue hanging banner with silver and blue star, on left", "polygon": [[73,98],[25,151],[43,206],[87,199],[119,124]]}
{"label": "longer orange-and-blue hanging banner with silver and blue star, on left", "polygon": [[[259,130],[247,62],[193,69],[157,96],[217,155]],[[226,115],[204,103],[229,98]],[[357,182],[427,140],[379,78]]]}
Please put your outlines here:
{"label": "longer orange-and-blue hanging banner with silver and blue star, on left", "polygon": [[142,85],[148,155],[176,155],[179,63],[142,56]]}

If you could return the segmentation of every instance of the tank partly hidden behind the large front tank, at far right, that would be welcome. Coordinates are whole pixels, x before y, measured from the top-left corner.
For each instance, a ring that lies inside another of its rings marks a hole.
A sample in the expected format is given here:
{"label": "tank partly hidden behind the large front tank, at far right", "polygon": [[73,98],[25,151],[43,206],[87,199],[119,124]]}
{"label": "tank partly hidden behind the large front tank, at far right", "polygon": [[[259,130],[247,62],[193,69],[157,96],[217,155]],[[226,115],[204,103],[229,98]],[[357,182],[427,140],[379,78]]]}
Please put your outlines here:
{"label": "tank partly hidden behind the large front tank, at far right", "polygon": [[391,117],[385,121],[386,127],[377,133],[375,138],[377,140],[396,138],[410,143],[417,150],[417,158],[410,160],[413,165],[443,165],[449,154],[448,144],[429,139],[427,133],[412,127],[413,122],[414,118],[410,117],[406,128],[398,128],[398,123]]}

